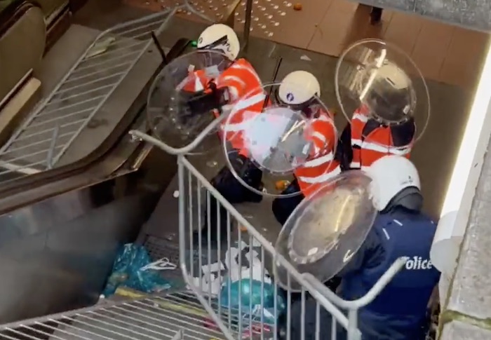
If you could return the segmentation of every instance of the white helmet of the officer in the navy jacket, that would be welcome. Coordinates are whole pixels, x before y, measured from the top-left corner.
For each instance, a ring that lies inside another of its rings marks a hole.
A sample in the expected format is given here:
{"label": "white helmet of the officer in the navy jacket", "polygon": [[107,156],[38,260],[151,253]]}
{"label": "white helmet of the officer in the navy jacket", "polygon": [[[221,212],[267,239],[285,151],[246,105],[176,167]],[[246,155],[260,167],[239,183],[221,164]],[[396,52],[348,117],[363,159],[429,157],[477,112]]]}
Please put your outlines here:
{"label": "white helmet of the officer in the navy jacket", "polygon": [[422,208],[419,174],[408,158],[384,156],[365,172],[372,179],[370,193],[378,211],[389,210],[396,205],[416,211]]}

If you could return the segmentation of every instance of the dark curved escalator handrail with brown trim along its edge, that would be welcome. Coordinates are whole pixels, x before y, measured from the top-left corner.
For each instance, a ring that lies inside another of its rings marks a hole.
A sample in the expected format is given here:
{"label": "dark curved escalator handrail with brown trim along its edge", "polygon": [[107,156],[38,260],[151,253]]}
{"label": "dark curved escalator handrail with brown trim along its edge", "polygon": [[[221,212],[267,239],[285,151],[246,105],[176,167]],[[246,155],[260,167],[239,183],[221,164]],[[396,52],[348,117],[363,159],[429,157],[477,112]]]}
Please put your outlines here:
{"label": "dark curved escalator handrail with brown trim along its edge", "polygon": [[[171,50],[181,51],[182,49],[173,47]],[[141,74],[136,74],[136,76],[132,78],[133,81],[135,79],[139,79],[140,81],[140,83],[137,84],[139,86],[139,94],[133,94],[133,103],[126,109],[126,114],[123,115],[121,121],[119,121],[109,137],[100,144],[100,147],[95,149],[95,151],[81,161],[76,161],[72,164],[31,175],[29,177],[23,177],[1,186],[0,214],[69,190],[93,185],[97,182],[104,181],[108,177],[118,176],[118,174],[115,173],[116,170],[123,164],[128,162],[131,163],[133,159],[140,157],[135,155],[135,153],[137,154],[144,149],[142,148],[142,144],[132,142],[130,136],[127,135],[126,132],[130,127],[133,129],[144,129],[146,126],[144,105],[147,100],[147,91],[152,83],[152,79],[162,67],[162,65],[160,65],[154,69],[154,65],[159,65],[161,62],[158,52],[155,51],[154,53],[149,54],[149,58],[151,59],[144,60],[147,62],[151,60],[152,64],[148,64],[147,67],[143,66],[142,68],[135,68],[135,72],[141,72]],[[130,74],[133,74],[133,72],[130,72]],[[117,89],[114,92],[114,96],[129,97],[128,90],[131,90],[130,85],[132,83],[131,79],[128,80],[129,83],[123,81],[123,84],[127,84],[126,88],[122,88],[121,92]],[[144,83],[145,81],[146,83]],[[133,86],[137,88],[135,83],[133,83]],[[128,100],[128,98],[126,99],[129,104],[130,100]],[[106,110],[111,112],[118,109],[118,106],[121,106],[122,102],[108,101],[108,105]],[[110,105],[114,106],[111,107]],[[107,114],[109,114],[109,112],[107,112]],[[97,127],[96,125],[95,130],[97,128],[107,127],[103,125]],[[90,135],[88,135],[88,137],[90,137]],[[145,152],[148,153],[148,150]],[[141,164],[141,160],[138,163]],[[128,170],[123,170],[122,173],[134,170],[137,170],[137,168],[133,168],[133,165],[128,164]]]}

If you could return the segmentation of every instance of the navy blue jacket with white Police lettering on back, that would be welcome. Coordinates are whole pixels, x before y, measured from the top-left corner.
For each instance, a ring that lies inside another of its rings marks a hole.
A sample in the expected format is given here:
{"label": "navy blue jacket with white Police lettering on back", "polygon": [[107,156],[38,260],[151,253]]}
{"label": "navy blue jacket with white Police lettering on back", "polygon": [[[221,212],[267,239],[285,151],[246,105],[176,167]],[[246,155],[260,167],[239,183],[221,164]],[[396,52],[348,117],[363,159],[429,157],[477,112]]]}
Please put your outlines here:
{"label": "navy blue jacket with white Police lettering on back", "polygon": [[377,216],[361,249],[340,273],[338,294],[347,300],[363,297],[398,257],[408,261],[358,312],[363,340],[424,339],[427,305],[440,278],[429,259],[435,232],[436,223],[420,212],[396,208]]}

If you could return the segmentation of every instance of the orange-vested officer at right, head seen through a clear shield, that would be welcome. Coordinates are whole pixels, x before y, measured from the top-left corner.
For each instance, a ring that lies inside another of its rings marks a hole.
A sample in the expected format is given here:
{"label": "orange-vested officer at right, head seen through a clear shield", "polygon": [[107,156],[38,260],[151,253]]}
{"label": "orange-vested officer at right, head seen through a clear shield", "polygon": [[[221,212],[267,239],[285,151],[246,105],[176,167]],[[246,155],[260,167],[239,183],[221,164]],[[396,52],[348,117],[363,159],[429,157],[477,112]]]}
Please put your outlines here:
{"label": "orange-vested officer at right, head seen through a clear shield", "polygon": [[339,139],[342,169],[363,170],[391,154],[410,158],[416,137],[415,101],[410,76],[401,67],[393,62],[379,67],[364,103],[354,111]]}

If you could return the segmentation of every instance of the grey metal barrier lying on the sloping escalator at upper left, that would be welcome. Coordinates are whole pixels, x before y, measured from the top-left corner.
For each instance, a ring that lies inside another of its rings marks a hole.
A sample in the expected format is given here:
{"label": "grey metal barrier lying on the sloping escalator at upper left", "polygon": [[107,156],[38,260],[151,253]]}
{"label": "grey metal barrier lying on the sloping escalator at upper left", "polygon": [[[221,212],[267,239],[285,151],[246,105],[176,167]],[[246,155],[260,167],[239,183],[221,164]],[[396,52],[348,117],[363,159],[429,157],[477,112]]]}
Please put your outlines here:
{"label": "grey metal barrier lying on the sloping escalator at upper left", "polygon": [[153,43],[152,32],[165,28],[173,13],[149,15],[97,36],[0,148],[0,182],[55,168],[83,129],[101,123],[97,112]]}

